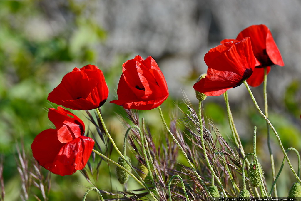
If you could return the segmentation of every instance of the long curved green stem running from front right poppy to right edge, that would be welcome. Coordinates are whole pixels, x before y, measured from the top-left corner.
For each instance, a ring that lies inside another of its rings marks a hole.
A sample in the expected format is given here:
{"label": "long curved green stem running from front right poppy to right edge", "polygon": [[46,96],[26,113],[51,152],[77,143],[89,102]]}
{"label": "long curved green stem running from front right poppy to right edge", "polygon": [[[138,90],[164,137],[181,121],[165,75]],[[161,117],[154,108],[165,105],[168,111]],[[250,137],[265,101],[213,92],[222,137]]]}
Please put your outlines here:
{"label": "long curved green stem running from front right poppy to right edge", "polygon": [[278,140],[278,143],[279,143],[279,145],[280,145],[280,148],[281,148],[281,150],[282,150],[282,152],[283,152],[285,158],[287,159],[288,165],[290,166],[290,169],[292,170],[294,176],[296,177],[297,181],[298,181],[299,183],[301,183],[300,178],[298,177],[298,175],[296,174],[295,170],[293,169],[293,165],[292,165],[292,163],[290,162],[290,159],[288,158],[287,153],[285,152],[285,149],[284,149],[284,147],[283,147],[283,145],[282,145],[282,142],[281,142],[281,140],[280,140],[280,138],[279,138],[279,135],[278,135],[277,131],[275,130],[275,128],[274,128],[274,126],[272,125],[272,123],[270,122],[270,120],[269,120],[269,119],[264,115],[264,113],[262,113],[262,111],[260,110],[260,108],[259,108],[259,106],[258,106],[258,104],[257,104],[257,102],[256,102],[256,100],[255,100],[255,98],[254,98],[254,96],[253,96],[253,93],[252,93],[252,91],[251,91],[251,89],[250,89],[250,87],[249,87],[249,85],[247,84],[246,81],[244,81],[244,84],[245,84],[245,86],[246,86],[246,88],[247,88],[247,90],[248,90],[248,92],[249,92],[249,94],[250,94],[250,96],[251,96],[251,99],[253,100],[253,103],[254,103],[256,109],[257,109],[258,112],[261,114],[261,116],[265,119],[265,121],[268,123],[268,125],[272,128],[272,131],[274,132],[274,134],[275,134],[275,136],[276,136],[276,138],[277,138],[277,140]]}

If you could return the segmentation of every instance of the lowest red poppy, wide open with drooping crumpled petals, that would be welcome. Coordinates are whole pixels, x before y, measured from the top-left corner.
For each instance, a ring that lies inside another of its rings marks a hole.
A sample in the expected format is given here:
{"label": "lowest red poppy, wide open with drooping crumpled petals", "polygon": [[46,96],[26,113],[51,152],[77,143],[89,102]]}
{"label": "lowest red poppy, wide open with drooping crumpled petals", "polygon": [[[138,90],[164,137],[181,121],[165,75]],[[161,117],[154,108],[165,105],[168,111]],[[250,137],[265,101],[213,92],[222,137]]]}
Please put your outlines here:
{"label": "lowest red poppy, wide open with drooping crumpled petals", "polygon": [[85,125],[73,113],[49,108],[48,118],[56,129],[42,131],[31,144],[33,157],[57,175],[72,175],[85,167],[94,147],[92,138],[83,136]]}

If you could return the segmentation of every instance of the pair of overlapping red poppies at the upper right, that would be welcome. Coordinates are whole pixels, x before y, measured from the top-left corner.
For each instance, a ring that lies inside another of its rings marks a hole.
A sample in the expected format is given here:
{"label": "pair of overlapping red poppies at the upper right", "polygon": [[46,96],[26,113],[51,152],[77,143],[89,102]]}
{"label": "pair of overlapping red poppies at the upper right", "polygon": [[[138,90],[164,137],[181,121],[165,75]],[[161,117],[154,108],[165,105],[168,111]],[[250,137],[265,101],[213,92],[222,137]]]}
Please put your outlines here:
{"label": "pair of overlapping red poppies at the upper right", "polygon": [[[255,57],[255,58],[254,58]],[[207,76],[193,87],[208,96],[219,96],[244,80],[259,86],[270,66],[284,66],[281,54],[267,26],[253,25],[241,31],[236,39],[225,39],[205,55]]]}

